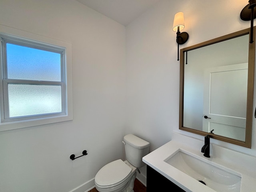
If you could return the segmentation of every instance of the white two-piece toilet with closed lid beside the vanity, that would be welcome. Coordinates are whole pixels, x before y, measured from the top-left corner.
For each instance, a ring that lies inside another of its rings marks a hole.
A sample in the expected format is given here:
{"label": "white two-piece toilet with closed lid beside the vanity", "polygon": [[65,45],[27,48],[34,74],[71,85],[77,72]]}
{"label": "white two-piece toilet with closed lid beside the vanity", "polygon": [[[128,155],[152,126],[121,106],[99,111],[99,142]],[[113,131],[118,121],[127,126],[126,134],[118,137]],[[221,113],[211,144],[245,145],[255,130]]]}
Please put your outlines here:
{"label": "white two-piece toilet with closed lid beside the vanity", "polygon": [[148,154],[150,143],[132,134],[122,142],[126,160],[112,161],[98,171],[95,186],[99,192],[134,192],[136,171],[145,165],[142,157]]}

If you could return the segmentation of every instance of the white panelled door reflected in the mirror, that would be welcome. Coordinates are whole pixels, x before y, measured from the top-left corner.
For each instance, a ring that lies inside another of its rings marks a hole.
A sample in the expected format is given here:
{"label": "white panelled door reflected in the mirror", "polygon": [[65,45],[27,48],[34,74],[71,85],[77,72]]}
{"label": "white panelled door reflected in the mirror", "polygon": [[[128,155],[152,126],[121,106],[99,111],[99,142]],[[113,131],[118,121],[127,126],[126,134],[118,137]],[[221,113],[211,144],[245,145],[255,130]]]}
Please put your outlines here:
{"label": "white panelled door reflected in the mirror", "polygon": [[204,71],[203,131],[245,140],[247,77],[248,63]]}

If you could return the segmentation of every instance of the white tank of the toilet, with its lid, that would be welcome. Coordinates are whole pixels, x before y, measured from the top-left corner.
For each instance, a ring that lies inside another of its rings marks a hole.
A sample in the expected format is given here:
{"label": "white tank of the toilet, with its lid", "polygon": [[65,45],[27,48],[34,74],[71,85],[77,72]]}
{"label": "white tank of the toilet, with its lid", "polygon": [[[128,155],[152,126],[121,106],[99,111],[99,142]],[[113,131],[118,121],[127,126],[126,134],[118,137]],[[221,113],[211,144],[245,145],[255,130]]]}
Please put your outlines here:
{"label": "white tank of the toilet, with its lid", "polygon": [[126,160],[134,167],[143,167],[142,157],[148,154],[150,143],[132,134],[124,136],[124,143]]}

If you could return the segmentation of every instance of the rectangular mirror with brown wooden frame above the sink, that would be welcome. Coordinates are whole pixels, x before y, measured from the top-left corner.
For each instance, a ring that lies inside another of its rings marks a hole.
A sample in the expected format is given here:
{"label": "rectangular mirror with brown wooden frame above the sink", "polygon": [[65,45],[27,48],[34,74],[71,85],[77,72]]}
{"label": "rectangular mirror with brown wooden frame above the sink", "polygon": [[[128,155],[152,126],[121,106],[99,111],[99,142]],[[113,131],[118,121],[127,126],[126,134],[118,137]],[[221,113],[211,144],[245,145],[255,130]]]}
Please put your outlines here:
{"label": "rectangular mirror with brown wooden frame above the sink", "polygon": [[251,148],[254,42],[250,28],[180,50],[179,129]]}

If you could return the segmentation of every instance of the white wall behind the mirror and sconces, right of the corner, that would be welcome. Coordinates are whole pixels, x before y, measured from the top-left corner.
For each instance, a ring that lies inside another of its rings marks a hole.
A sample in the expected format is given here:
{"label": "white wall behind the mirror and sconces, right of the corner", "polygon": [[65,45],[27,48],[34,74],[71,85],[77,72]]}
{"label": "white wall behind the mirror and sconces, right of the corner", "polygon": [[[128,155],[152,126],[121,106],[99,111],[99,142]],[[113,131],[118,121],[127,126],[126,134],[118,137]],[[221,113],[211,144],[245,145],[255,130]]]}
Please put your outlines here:
{"label": "white wall behind the mirror and sconces, right of the corner", "polygon": [[[184,31],[189,34],[188,42],[180,46],[184,48],[249,28],[250,22],[240,20],[246,4],[246,0],[162,0],[126,27],[126,132],[148,140],[150,151],[171,140],[173,131],[203,139],[178,129],[180,67],[174,14],[184,12]],[[212,142],[256,155],[255,119],[252,138],[252,149]]]}

